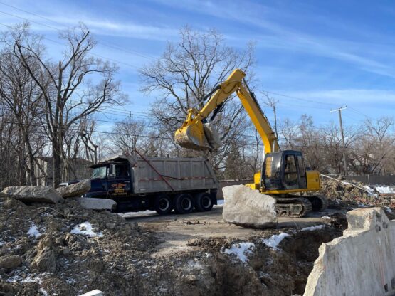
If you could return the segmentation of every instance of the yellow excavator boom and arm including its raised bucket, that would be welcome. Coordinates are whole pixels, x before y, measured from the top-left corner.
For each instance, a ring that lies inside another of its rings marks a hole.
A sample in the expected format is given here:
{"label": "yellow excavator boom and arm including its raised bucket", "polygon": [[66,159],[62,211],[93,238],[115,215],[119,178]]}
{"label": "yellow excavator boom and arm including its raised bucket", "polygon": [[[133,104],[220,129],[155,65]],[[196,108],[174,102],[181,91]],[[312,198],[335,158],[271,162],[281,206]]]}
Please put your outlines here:
{"label": "yellow excavator boom and arm including its raised bucket", "polygon": [[216,130],[206,120],[236,92],[263,141],[265,154],[280,151],[275,133],[256,97],[248,89],[245,76],[242,70],[233,70],[228,79],[218,85],[201,110],[189,109],[184,124],[174,134],[175,142],[181,147],[194,150],[217,149],[221,146]]}

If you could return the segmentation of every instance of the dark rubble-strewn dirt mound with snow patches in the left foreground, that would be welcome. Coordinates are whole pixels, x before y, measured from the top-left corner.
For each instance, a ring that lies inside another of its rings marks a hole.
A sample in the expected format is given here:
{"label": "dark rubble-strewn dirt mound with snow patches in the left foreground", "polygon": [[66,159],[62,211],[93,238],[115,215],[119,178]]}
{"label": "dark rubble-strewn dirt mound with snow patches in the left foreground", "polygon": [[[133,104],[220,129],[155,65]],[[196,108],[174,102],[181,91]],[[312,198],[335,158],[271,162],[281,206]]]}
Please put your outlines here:
{"label": "dark rubble-strewn dirt mound with snow patches in the left foreground", "polygon": [[157,244],[151,233],[73,200],[51,205],[0,196],[0,291],[5,295],[78,295],[96,288],[127,295],[137,262]]}

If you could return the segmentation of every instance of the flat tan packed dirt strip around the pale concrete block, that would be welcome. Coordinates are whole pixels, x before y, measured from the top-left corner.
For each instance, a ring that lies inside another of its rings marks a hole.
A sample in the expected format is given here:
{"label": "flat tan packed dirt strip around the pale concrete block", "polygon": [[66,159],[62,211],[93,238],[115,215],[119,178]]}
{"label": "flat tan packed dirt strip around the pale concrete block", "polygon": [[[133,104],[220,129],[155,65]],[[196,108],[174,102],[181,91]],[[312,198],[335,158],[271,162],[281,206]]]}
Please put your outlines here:
{"label": "flat tan packed dirt strip around the pale concrete block", "polygon": [[[153,257],[172,255],[180,252],[196,250],[196,247],[188,245],[189,240],[204,238],[238,238],[246,240],[251,236],[264,237],[270,230],[258,230],[253,228],[243,228],[234,224],[225,223],[222,219],[223,206],[214,206],[209,212],[194,212],[184,215],[173,213],[167,216],[160,216],[155,212],[146,211],[140,213],[122,214],[130,223],[138,223],[139,226],[154,233],[161,241],[157,245],[157,251]],[[315,226],[325,223],[328,215],[332,213],[346,213],[345,210],[327,209],[322,212],[309,213],[303,218],[278,218],[278,231],[282,228],[301,229],[308,226]]]}

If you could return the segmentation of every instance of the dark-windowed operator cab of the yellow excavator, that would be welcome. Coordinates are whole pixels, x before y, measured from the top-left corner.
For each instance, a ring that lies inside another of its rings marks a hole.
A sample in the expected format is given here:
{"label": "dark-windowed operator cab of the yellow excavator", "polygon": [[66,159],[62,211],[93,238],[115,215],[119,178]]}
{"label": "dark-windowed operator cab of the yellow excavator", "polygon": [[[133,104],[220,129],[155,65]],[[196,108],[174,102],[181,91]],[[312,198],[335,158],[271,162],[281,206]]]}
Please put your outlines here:
{"label": "dark-windowed operator cab of the yellow excavator", "polygon": [[260,188],[265,191],[306,189],[306,169],[302,152],[285,150],[265,154]]}

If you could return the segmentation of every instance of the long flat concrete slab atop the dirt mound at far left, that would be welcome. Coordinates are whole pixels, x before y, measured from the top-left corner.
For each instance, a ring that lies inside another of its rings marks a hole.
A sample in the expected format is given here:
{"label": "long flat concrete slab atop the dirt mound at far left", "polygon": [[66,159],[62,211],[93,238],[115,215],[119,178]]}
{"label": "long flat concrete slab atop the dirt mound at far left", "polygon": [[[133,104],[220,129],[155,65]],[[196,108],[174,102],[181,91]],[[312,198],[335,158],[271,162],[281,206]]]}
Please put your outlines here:
{"label": "long flat concrete slab atop the dirt mound at far left", "polygon": [[3,193],[23,202],[57,203],[63,201],[58,191],[48,186],[10,186]]}

